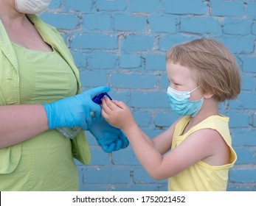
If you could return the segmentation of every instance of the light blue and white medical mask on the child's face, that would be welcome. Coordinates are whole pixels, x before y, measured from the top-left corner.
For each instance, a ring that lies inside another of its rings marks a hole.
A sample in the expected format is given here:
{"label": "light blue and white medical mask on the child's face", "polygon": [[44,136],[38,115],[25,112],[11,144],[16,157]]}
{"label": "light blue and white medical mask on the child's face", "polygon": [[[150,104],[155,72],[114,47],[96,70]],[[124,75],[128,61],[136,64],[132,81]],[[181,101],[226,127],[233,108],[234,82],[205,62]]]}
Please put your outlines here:
{"label": "light blue and white medical mask on the child's face", "polygon": [[173,112],[178,113],[181,116],[196,116],[204,102],[204,97],[196,102],[188,100],[190,98],[190,93],[192,93],[194,90],[179,91],[168,87],[168,102]]}

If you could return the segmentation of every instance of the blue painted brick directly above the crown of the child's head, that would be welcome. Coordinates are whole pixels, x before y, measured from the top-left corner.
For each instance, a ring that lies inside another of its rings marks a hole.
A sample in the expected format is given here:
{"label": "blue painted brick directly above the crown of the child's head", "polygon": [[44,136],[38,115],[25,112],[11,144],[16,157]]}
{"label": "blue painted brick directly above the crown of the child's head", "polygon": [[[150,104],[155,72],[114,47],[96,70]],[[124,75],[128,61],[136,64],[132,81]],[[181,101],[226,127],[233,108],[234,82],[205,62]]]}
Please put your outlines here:
{"label": "blue painted brick directly above the crown of the child's head", "polygon": [[215,18],[182,18],[181,32],[218,35],[221,34],[221,25]]}

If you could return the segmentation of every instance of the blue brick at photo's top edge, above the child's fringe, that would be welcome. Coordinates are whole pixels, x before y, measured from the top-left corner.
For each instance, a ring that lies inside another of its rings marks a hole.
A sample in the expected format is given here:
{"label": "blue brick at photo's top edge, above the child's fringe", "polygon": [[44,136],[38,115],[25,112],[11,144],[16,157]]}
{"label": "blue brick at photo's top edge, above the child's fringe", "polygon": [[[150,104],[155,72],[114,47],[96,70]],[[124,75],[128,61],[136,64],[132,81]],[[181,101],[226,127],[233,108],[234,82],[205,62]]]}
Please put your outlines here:
{"label": "blue brick at photo's top edge, above the child's fringe", "polygon": [[204,4],[202,0],[165,0],[163,4],[163,10],[165,13],[172,14],[196,14],[203,15],[207,12],[207,4]]}

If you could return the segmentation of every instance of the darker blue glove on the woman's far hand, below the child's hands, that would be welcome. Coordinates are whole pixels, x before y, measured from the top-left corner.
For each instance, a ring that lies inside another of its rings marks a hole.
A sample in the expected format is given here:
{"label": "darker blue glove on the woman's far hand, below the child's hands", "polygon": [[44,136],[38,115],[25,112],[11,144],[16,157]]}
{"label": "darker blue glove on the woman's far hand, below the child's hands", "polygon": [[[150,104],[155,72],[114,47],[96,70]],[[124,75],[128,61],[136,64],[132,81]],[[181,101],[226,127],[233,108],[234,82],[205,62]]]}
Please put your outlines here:
{"label": "darker blue glove on the woman's far hand, below the child's hands", "polygon": [[94,135],[104,152],[117,151],[129,145],[128,138],[122,131],[108,124],[102,116],[93,118],[89,131]]}

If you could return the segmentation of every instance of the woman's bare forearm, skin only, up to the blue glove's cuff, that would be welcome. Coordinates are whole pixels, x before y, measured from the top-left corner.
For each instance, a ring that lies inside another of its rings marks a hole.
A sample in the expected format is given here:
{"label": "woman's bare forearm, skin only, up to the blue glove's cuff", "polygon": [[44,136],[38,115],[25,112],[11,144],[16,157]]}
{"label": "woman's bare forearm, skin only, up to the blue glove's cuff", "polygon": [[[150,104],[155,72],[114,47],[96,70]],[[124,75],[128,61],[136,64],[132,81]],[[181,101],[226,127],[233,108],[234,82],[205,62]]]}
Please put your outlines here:
{"label": "woman's bare forearm, skin only, up to the blue glove's cuff", "polygon": [[41,104],[0,106],[0,148],[26,141],[47,129]]}

